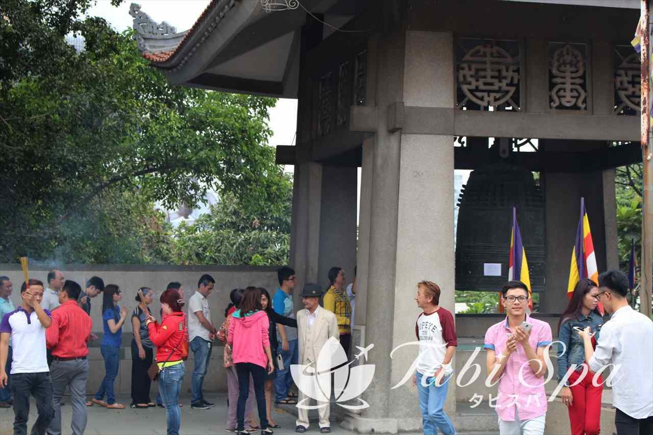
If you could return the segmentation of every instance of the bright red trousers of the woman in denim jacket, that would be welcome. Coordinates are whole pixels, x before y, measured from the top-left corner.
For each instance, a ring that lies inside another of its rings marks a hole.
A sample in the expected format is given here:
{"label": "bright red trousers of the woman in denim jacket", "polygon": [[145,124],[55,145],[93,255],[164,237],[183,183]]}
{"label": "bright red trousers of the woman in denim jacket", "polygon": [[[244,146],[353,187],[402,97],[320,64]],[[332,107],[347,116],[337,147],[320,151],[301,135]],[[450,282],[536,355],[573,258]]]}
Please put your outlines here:
{"label": "bright red trousers of the woman in denim jacket", "polygon": [[[581,376],[581,372],[573,372],[569,376],[570,385]],[[603,394],[603,377],[599,376],[596,382],[598,387],[592,385],[594,373],[587,371],[585,378],[578,385],[570,387],[573,402],[569,406],[569,421],[571,422],[571,435],[599,435],[601,420],[601,395]]]}

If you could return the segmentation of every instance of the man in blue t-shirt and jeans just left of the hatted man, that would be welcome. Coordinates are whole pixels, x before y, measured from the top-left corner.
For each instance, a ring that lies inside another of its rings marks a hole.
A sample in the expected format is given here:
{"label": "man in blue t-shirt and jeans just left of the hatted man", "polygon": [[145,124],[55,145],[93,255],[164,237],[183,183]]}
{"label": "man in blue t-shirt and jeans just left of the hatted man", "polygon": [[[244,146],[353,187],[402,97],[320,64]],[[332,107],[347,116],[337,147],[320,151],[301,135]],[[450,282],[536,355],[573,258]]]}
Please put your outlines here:
{"label": "man in blue t-shirt and jeans just left of the hatted man", "polygon": [[[277,270],[279,287],[272,297],[272,310],[277,314],[295,319],[295,304],[293,304],[293,290],[295,289],[295,270],[282,267]],[[283,358],[283,370],[278,370],[274,388],[276,389],[276,402],[283,404],[296,404],[290,387],[293,385],[293,376],[290,373],[291,364],[297,364],[299,349],[297,347],[297,330],[286,328],[277,324],[281,342],[277,354]]]}

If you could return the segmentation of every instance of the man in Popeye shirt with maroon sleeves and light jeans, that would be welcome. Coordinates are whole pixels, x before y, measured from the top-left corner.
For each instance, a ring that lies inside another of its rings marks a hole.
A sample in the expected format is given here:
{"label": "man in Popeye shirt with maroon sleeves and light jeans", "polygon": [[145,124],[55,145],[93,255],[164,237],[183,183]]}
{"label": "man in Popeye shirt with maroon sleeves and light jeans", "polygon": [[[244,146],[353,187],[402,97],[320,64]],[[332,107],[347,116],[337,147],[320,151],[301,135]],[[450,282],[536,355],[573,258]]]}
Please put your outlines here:
{"label": "man in Popeye shirt with maroon sleeves and light jeans", "polygon": [[456,435],[456,428],[443,408],[453,374],[451,359],[458,342],[453,315],[438,305],[439,300],[438,284],[431,281],[417,284],[415,301],[424,312],[415,323],[420,359],[413,385],[417,385],[419,393],[424,435],[438,435],[438,429],[444,435]]}

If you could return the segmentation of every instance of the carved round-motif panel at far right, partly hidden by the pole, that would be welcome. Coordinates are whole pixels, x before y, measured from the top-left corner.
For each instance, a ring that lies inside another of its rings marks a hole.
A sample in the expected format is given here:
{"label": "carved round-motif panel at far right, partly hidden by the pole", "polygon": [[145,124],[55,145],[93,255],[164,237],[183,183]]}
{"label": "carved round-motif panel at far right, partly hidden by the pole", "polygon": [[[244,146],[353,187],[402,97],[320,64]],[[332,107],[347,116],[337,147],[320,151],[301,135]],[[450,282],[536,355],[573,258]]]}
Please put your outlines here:
{"label": "carved round-motif panel at far right, partly hidden by the pole", "polygon": [[628,45],[614,47],[614,114],[639,115],[641,59]]}

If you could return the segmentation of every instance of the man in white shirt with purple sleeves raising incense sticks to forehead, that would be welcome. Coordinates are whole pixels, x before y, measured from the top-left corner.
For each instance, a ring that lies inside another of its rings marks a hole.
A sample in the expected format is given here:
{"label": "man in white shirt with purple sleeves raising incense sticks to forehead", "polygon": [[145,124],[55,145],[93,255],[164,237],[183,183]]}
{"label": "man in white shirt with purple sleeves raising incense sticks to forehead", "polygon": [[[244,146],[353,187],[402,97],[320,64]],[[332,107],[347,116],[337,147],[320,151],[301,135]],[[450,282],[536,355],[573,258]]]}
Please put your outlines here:
{"label": "man in white shirt with purple sleeves raising incense sticks to forehead", "polygon": [[[27,285],[29,284],[29,288]],[[43,283],[29,280],[20,287],[22,304],[5,314],[0,323],[0,388],[7,387],[11,376],[14,391],[14,435],[27,435],[29,395],[37,402],[39,417],[32,434],[45,434],[54,417],[52,382],[46,357],[45,330],[50,327],[51,315],[40,306]],[[12,340],[11,373],[5,372],[9,338]]]}

